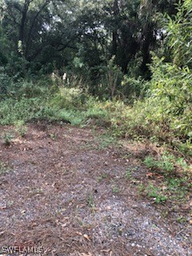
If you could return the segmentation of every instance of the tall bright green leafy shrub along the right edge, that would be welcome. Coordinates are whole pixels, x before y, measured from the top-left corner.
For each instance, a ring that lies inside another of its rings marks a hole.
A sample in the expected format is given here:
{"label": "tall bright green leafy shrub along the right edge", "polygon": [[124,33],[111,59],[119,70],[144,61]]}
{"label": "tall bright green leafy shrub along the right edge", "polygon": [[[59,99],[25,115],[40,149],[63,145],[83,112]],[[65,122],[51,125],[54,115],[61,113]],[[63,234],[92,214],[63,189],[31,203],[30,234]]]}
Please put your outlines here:
{"label": "tall bright green leafy shrub along the right edge", "polygon": [[191,1],[182,2],[174,18],[167,18],[165,46],[171,50],[172,62],[154,56],[149,98],[144,105],[149,110],[154,106],[154,112],[146,112],[148,120],[186,140],[192,138],[191,7]]}

